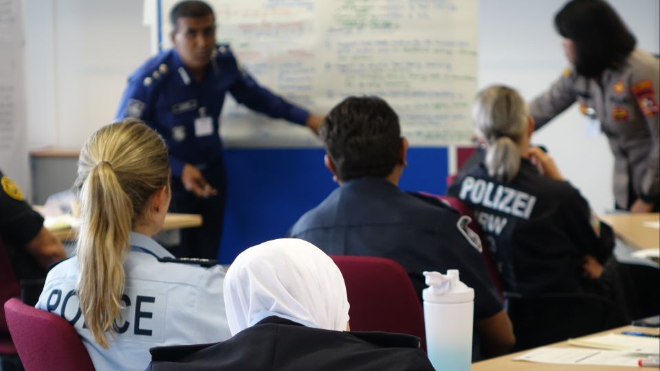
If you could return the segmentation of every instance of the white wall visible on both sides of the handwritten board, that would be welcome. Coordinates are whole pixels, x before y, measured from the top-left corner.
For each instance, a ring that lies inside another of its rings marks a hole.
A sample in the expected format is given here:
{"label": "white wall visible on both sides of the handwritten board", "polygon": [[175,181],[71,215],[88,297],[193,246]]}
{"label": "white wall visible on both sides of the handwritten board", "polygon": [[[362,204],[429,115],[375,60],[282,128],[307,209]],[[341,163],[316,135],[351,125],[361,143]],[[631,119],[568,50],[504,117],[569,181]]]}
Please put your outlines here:
{"label": "white wall visible on both sides of the handwritten board", "polygon": [[[150,54],[138,0],[24,0],[28,144],[79,147],[113,119],[126,77]],[[479,1],[479,85],[516,87],[533,98],[566,66],[553,16],[564,0]],[[659,51],[658,0],[610,0],[641,47]],[[543,128],[564,175],[597,212],[613,205],[606,139],[586,137],[573,107]]]}

